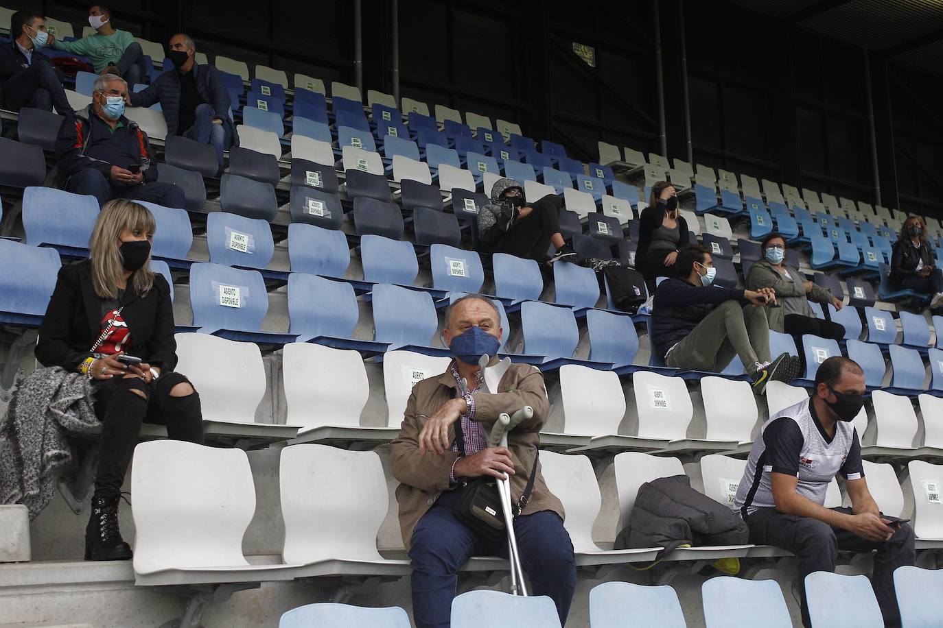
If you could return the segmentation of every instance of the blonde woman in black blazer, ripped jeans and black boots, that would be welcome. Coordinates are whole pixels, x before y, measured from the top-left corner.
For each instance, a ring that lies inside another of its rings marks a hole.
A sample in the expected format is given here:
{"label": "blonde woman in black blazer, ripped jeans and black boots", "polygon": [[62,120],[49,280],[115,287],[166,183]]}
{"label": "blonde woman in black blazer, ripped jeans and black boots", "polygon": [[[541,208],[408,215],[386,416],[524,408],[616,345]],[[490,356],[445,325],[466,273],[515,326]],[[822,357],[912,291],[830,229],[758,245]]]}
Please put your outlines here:
{"label": "blonde woman in black blazer, ripped jeans and black boots", "polygon": [[[172,439],[203,443],[200,397],[174,373],[170,286],[150,269],[154,229],[143,205],[105,203],[91,233],[90,258],[59,270],[40,326],[37,360],[94,379],[102,433],[86,560],[131,557],[118,528],[118,501],[141,422],[166,425]],[[122,354],[141,364],[120,362]]]}

